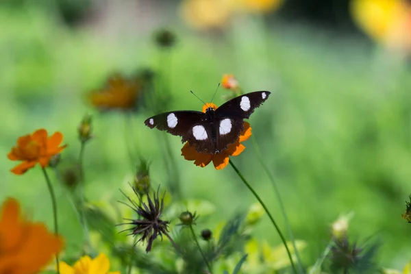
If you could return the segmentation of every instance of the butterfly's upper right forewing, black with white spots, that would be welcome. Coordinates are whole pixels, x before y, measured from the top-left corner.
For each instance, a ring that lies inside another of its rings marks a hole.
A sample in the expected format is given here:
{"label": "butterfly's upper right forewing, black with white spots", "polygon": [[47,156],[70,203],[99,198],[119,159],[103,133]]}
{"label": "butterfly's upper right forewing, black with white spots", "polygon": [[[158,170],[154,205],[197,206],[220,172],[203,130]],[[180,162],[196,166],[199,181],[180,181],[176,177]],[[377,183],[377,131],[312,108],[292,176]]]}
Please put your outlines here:
{"label": "butterfly's upper right forewing, black with white spots", "polygon": [[255,91],[240,95],[217,108],[216,116],[249,119],[254,110],[264,103],[266,99],[269,99],[270,95],[271,92],[269,91]]}

